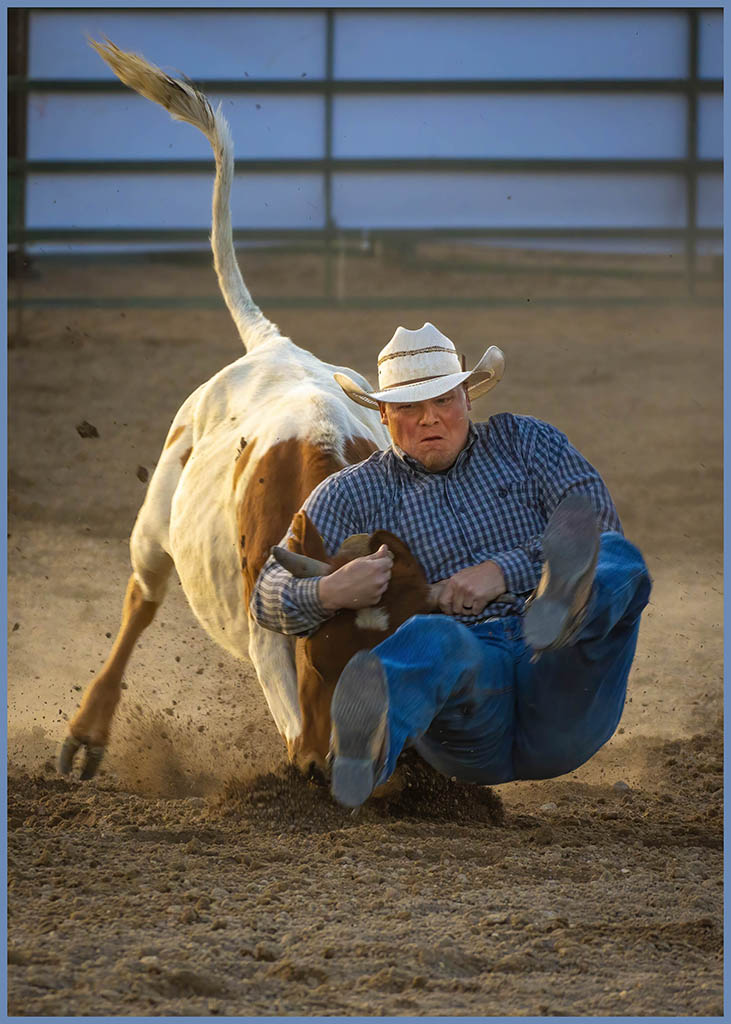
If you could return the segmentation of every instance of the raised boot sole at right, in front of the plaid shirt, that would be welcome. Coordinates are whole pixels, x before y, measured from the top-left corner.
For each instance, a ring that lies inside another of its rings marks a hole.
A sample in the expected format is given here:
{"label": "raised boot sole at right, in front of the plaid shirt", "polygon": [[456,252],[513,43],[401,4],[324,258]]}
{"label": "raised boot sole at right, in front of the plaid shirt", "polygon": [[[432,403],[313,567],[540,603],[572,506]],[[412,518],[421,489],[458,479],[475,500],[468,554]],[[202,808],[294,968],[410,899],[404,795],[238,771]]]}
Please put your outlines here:
{"label": "raised boot sole at right, in front of the plaid shirt", "polygon": [[560,641],[575,611],[576,591],[596,566],[599,528],[589,499],[569,495],[561,502],[546,526],[543,549],[549,582],[523,620],[525,640],[535,650]]}

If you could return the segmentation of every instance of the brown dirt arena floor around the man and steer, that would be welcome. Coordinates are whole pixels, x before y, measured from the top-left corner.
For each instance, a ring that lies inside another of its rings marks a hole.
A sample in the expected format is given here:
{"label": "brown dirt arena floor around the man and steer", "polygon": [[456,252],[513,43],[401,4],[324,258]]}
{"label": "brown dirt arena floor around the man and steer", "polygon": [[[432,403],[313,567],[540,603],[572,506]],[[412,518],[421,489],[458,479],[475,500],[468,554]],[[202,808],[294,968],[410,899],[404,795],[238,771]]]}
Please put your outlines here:
{"label": "brown dirt arena floor around the man and steer", "polygon": [[[100,775],[55,773],[118,627],[169,422],[241,346],[204,266],[39,264],[24,282],[30,297],[211,303],[27,310],[23,337],[10,315],[11,1015],[723,1013],[720,301],[677,301],[683,283],[652,261],[658,274],[620,279],[510,259],[514,272],[446,276],[438,259],[353,258],[336,268],[342,292],[423,304],[265,311],[370,377],[398,324],[434,321],[468,365],[504,348],[475,418],[565,430],[654,579],[625,715],[560,779],[462,787],[413,762],[400,797],[354,816],[288,769],[251,666],[208,639],[177,583],[128,670]],[[251,253],[245,272],[259,299],[321,285],[304,256]],[[480,291],[512,304],[433,300]]]}

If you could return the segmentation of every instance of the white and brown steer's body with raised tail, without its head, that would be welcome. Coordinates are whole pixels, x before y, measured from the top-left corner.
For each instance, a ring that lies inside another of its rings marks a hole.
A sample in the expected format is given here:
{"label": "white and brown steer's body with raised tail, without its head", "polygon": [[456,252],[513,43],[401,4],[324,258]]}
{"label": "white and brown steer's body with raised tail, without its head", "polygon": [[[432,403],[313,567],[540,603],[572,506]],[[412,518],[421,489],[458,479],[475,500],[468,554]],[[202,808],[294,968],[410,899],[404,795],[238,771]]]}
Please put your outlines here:
{"label": "white and brown steer's body with raised tail, without its head", "polygon": [[[128,86],[208,138],[216,161],[211,246],[218,283],[246,355],[183,402],[149,481],[130,539],[132,574],[122,625],[69,725],[59,769],[85,748],[92,777],[106,748],[134,645],[163,600],[175,566],[198,621],[235,657],[254,665],[269,711],[294,760],[302,739],[295,640],[259,627],[249,600],[269,549],[310,490],[334,471],[385,447],[378,413],[350,401],[330,366],[283,337],[252,300],[233,250],[233,153],[220,106],[113,43],[91,42]],[[309,692],[309,691],[307,691]]]}

